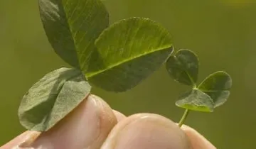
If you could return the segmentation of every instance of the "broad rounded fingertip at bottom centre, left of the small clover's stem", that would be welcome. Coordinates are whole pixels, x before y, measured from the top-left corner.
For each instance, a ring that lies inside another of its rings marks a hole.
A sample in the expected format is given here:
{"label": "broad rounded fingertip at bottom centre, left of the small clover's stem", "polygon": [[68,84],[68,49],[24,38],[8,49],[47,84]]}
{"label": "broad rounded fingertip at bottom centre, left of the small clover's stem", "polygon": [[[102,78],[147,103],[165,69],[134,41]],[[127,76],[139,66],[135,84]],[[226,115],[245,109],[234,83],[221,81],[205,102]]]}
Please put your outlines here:
{"label": "broad rounded fingertip at bottom centre, left of the small clover's stem", "polygon": [[101,149],[189,149],[176,123],[156,114],[135,114],[117,123]]}

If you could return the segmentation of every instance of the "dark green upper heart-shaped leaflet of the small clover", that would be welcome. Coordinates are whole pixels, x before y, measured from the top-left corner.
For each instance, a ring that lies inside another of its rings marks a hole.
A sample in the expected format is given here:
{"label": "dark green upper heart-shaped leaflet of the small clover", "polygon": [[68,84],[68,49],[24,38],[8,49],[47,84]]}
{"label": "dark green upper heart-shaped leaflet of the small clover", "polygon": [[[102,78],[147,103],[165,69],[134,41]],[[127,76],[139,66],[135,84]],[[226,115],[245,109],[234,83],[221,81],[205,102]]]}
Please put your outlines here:
{"label": "dark green upper heart-shaped leaflet of the small clover", "polygon": [[198,63],[198,57],[191,50],[178,50],[167,60],[166,70],[176,82],[196,86]]}

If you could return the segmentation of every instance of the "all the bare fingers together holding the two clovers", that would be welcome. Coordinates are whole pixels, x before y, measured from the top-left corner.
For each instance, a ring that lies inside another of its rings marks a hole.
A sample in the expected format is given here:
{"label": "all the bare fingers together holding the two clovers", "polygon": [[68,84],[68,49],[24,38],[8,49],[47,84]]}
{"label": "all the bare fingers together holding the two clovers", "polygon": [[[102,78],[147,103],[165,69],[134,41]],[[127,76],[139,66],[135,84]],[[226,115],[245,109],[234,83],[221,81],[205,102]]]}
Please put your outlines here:
{"label": "all the bare fingers together holding the two clovers", "polygon": [[95,95],[49,131],[26,131],[0,149],[215,149],[188,126],[156,114],[126,117]]}

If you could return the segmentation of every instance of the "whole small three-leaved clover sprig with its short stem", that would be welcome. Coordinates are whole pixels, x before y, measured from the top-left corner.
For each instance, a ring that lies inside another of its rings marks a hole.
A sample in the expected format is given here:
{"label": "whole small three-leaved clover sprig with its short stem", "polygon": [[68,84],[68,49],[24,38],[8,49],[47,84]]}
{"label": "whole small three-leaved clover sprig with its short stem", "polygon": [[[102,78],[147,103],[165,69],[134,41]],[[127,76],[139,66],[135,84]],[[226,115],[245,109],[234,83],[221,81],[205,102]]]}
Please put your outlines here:
{"label": "whole small three-leaved clover sprig with its short stem", "polygon": [[166,61],[169,75],[181,84],[191,86],[191,89],[181,94],[176,106],[186,109],[178,126],[182,126],[189,111],[213,112],[227,101],[230,96],[232,79],[223,71],[214,72],[197,85],[199,60],[191,50],[178,50]]}

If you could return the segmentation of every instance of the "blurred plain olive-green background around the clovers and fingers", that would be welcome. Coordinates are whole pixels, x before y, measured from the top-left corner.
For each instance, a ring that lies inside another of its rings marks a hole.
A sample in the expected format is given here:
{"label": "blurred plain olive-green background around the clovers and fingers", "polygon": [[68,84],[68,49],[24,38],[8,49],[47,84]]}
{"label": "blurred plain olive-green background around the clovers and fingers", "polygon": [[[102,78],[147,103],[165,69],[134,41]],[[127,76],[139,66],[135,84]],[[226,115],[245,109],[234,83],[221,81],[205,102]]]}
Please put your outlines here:
{"label": "blurred plain olive-green background around the clovers and fingers", "polygon": [[[225,70],[233,89],[225,106],[212,114],[191,112],[186,124],[217,148],[255,148],[256,138],[256,3],[238,0],[106,0],[113,23],[143,16],[169,29],[176,49],[195,51],[201,61],[200,81]],[[18,122],[18,104],[47,72],[67,67],[53,53],[38,14],[38,1],[0,1],[0,145],[25,131]],[[94,89],[124,114],[151,112],[178,121],[183,109],[176,98],[186,87],[162,67],[142,84],[122,94]]]}

